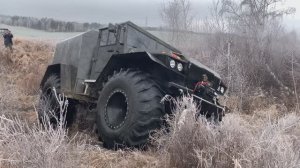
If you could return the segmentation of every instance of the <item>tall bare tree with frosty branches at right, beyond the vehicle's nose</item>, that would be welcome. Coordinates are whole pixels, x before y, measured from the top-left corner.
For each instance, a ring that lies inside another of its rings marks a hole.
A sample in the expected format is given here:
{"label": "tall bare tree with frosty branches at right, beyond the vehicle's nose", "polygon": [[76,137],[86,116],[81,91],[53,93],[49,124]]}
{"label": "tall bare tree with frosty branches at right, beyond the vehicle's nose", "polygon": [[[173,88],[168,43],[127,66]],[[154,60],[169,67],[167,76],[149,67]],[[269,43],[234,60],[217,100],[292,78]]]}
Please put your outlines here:
{"label": "tall bare tree with frosty branches at right, beyond the vehicle's nose", "polygon": [[[292,95],[293,83],[298,84],[293,82],[290,53],[299,40],[291,38],[282,25],[283,16],[295,8],[278,8],[284,2],[215,0],[205,21],[210,64],[227,80],[231,94],[240,98],[240,107],[255,92]],[[300,60],[299,53],[294,54],[294,65]],[[293,71],[297,79],[299,70]]]}

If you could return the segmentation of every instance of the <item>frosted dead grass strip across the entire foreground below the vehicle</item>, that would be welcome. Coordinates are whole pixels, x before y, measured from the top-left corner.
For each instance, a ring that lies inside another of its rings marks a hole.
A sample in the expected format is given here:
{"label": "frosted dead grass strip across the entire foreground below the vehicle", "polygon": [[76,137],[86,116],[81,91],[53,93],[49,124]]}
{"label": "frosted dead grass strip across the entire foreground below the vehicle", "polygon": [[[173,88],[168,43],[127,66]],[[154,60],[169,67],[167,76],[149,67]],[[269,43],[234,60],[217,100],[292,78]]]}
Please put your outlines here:
{"label": "frosted dead grass strip across the entire foreground below the vehicle", "polygon": [[299,167],[300,117],[274,111],[227,114],[215,125],[195,120],[193,99],[184,97],[147,151],[108,151],[69,137],[62,122],[53,129],[49,120],[45,127],[1,116],[0,167]]}

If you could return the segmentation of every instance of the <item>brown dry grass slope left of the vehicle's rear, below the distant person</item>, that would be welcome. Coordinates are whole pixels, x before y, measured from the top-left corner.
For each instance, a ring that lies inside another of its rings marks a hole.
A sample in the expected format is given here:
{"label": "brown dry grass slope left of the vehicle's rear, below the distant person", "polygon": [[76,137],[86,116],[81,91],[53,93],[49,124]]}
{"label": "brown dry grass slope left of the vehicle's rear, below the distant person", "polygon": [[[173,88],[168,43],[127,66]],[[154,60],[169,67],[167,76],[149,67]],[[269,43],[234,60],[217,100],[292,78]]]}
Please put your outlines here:
{"label": "brown dry grass slope left of the vehicle's rear, below the distant person", "polygon": [[0,45],[0,114],[22,113],[32,121],[33,104],[53,46],[20,39],[14,44],[13,53]]}

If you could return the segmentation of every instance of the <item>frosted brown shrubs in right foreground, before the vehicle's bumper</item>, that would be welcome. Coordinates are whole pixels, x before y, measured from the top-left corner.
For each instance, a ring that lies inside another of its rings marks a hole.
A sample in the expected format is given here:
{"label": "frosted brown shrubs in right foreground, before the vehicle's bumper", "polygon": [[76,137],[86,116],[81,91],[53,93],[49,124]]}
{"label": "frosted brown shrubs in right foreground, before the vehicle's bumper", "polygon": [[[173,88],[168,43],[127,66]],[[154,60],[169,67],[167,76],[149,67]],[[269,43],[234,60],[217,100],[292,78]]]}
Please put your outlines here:
{"label": "frosted brown shrubs in right foreground, before the vehicle's bumper", "polygon": [[163,167],[260,168],[300,164],[300,117],[294,113],[275,120],[268,115],[245,120],[233,113],[216,126],[202,118],[195,120],[192,98],[184,97],[182,102],[169,121],[171,128],[155,137]]}

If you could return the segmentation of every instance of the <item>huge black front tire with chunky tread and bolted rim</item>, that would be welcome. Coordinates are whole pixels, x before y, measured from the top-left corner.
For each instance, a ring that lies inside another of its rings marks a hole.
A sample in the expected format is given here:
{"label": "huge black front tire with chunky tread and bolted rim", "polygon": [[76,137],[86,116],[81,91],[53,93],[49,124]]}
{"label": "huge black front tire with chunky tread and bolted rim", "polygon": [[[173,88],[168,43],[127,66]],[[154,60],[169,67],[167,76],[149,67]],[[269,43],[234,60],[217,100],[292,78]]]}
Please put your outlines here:
{"label": "huge black front tire with chunky tread and bolted rim", "polygon": [[142,147],[161,126],[162,93],[149,75],[137,70],[115,73],[97,103],[97,128],[104,146]]}

